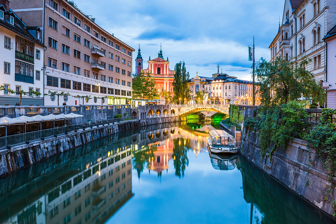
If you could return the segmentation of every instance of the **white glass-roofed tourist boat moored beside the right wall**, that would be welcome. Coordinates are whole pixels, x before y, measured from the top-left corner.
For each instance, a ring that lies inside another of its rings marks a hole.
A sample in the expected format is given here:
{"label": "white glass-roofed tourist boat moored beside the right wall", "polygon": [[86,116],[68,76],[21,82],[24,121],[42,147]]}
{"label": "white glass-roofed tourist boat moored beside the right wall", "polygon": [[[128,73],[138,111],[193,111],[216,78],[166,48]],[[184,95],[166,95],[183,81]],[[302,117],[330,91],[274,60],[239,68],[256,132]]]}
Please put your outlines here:
{"label": "white glass-roofed tourist boat moored beside the right wall", "polygon": [[237,153],[236,139],[224,130],[209,131],[208,147],[214,153]]}

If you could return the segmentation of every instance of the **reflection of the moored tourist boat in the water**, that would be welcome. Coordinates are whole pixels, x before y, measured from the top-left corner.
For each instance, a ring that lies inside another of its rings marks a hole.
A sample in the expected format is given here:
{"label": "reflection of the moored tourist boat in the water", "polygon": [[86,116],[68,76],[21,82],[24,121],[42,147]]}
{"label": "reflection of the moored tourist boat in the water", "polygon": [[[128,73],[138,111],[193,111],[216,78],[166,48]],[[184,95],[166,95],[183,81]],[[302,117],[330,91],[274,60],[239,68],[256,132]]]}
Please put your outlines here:
{"label": "reflection of the moored tourist boat in the water", "polygon": [[210,162],[216,170],[233,170],[236,168],[238,154],[218,154],[209,151]]}

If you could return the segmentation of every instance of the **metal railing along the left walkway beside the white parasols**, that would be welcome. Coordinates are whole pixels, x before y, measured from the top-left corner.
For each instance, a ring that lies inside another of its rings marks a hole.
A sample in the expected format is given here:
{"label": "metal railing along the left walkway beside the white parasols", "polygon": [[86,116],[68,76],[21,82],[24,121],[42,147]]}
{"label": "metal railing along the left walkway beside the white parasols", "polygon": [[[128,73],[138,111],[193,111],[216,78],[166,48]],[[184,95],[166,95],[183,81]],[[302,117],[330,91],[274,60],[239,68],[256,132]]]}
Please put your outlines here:
{"label": "metal railing along the left walkway beside the white parasols", "polygon": [[29,143],[36,140],[44,140],[48,137],[56,137],[57,135],[67,134],[68,132],[77,132],[78,130],[85,130],[87,128],[99,127],[109,124],[115,124],[122,121],[135,120],[137,116],[113,118],[99,121],[90,121],[86,123],[67,125],[63,127],[51,128],[40,131],[27,132],[16,135],[9,135],[0,137],[0,148],[6,147],[8,145],[19,145],[23,143]]}

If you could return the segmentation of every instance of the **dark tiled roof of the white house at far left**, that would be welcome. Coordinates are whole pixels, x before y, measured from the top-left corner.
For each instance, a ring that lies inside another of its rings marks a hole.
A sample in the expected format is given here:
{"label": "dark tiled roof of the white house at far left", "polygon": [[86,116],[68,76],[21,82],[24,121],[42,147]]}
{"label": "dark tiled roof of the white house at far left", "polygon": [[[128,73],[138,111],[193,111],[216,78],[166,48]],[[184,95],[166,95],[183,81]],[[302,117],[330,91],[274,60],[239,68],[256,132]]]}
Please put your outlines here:
{"label": "dark tiled roof of the white house at far left", "polygon": [[[4,10],[3,5],[0,5],[0,8],[2,10]],[[7,16],[6,16],[7,15]],[[7,18],[9,18],[9,15],[14,17],[14,26],[11,25],[8,21]],[[41,43],[39,40],[37,40],[31,33],[29,33],[27,28],[31,28],[31,27],[27,27],[26,24],[19,19],[19,17],[17,17],[17,15],[11,10],[9,9],[8,11],[5,10],[4,12],[4,20],[0,19],[0,26],[5,27],[6,29],[21,35],[23,37],[25,37],[26,39],[39,44],[41,46],[44,46],[43,43]]]}

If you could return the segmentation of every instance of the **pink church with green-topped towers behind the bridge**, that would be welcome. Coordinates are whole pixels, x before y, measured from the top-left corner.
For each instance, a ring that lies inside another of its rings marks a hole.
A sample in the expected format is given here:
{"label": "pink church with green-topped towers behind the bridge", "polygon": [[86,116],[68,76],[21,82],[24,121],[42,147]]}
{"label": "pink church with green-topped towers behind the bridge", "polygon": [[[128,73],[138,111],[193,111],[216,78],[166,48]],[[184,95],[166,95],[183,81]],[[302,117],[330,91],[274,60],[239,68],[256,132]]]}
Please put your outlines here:
{"label": "pink church with green-topped towers behind the bridge", "polygon": [[138,55],[135,59],[135,73],[138,75],[140,72],[143,73],[150,73],[151,76],[155,79],[156,82],[156,89],[158,90],[159,93],[159,99],[163,100],[163,102],[160,103],[165,103],[165,99],[163,96],[161,96],[161,92],[163,91],[169,91],[172,93],[172,96],[174,95],[173,93],[173,81],[174,81],[174,74],[175,71],[169,69],[169,60],[167,57],[167,60],[163,58],[162,55],[162,49],[160,49],[158,53],[158,57],[151,59],[151,56],[149,57],[148,60],[148,68],[143,69],[143,59],[141,56],[140,52],[140,46],[138,49]]}

